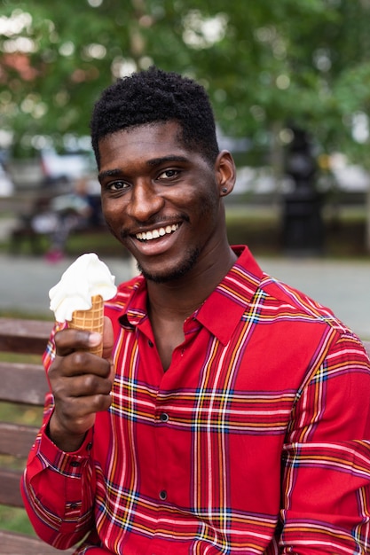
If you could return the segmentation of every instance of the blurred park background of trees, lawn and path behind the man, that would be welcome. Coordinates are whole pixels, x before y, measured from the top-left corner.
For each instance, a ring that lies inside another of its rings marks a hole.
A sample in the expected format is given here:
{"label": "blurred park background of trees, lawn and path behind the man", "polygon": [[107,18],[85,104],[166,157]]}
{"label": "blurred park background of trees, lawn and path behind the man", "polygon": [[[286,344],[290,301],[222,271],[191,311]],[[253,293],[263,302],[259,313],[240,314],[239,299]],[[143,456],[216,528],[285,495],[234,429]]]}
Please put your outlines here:
{"label": "blurred park background of trees, lawn and path behind the man", "polygon": [[[89,251],[130,264],[101,217],[89,121],[101,90],[155,64],[209,92],[220,147],[238,167],[230,241],[344,319],[347,301],[350,324],[370,323],[370,0],[0,5],[4,268],[60,274]],[[0,310],[44,312],[29,305],[34,291],[23,299],[14,279],[0,279]],[[49,283],[29,282],[47,302]]]}

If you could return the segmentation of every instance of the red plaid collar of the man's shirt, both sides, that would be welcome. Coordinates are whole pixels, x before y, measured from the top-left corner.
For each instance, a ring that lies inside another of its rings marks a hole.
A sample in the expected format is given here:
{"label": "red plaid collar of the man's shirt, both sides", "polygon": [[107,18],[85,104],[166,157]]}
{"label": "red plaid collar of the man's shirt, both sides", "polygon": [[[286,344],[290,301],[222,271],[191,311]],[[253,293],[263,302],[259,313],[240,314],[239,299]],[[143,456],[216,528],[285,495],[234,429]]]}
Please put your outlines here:
{"label": "red plaid collar of the man's shirt, both sides", "polygon": [[[263,275],[247,246],[232,246],[232,250],[238,260],[194,315],[224,344],[230,340]],[[132,290],[119,321],[123,327],[132,329],[147,318],[146,279],[138,276],[130,286]]]}

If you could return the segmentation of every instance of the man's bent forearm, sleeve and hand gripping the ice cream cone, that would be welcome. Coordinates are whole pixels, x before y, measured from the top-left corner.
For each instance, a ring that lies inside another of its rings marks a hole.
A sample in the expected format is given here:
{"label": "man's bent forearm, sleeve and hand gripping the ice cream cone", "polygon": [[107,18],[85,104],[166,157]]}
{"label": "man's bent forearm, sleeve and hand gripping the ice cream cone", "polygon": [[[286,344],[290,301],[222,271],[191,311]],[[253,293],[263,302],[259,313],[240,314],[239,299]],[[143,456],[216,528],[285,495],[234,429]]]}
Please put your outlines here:
{"label": "man's bent forearm, sleeve and hand gripping the ice cream cone", "polygon": [[[43,426],[21,483],[36,533],[62,549],[93,529],[92,427],[96,412],[109,407],[112,387],[110,360],[86,350],[99,340],[77,330],[53,336],[44,357],[52,395],[47,395]],[[103,356],[110,355],[112,343],[112,325],[106,319]]]}

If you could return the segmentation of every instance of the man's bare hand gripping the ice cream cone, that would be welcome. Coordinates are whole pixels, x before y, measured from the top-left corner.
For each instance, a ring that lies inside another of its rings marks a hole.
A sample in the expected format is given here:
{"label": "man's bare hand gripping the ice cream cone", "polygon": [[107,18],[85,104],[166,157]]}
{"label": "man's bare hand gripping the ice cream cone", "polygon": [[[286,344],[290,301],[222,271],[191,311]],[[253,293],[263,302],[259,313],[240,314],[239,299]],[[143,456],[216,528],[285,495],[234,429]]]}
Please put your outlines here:
{"label": "man's bare hand gripping the ice cream cone", "polygon": [[[103,357],[88,349],[103,340]],[[49,436],[59,449],[72,452],[82,445],[86,432],[94,425],[95,413],[111,404],[114,379],[110,355],[113,327],[105,317],[103,338],[99,333],[66,329],[57,332],[57,356],[51,364],[49,379],[55,409]]]}

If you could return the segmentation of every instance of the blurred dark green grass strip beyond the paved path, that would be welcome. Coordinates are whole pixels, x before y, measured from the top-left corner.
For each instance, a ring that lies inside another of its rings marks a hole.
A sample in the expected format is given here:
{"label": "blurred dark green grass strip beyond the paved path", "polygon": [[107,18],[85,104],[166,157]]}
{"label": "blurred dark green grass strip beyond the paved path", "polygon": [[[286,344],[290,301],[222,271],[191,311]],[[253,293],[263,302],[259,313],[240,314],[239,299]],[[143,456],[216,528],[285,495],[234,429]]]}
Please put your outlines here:
{"label": "blurred dark green grass strip beyond the paved path", "polygon": [[[0,215],[1,217],[1,215]],[[326,207],[323,212],[325,227],[323,254],[327,257],[366,257],[366,207]],[[270,205],[226,205],[226,223],[230,243],[247,244],[257,256],[281,256],[282,216],[279,207]],[[49,246],[48,238],[41,238],[42,253]],[[17,244],[20,254],[32,254],[28,240]],[[0,253],[11,252],[10,241],[0,243]],[[78,256],[95,252],[102,257],[127,255],[125,248],[106,229],[84,231],[67,240],[67,254]]]}

